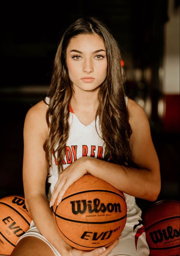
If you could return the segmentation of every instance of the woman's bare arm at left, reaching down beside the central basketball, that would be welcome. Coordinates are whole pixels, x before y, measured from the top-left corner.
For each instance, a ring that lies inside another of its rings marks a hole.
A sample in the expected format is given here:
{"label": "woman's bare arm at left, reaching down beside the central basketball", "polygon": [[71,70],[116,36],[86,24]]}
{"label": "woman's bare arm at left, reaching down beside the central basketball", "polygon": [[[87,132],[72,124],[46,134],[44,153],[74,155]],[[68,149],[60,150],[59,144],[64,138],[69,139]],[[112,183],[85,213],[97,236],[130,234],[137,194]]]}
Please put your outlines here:
{"label": "woman's bare arm at left, reaching down beside the central basketball", "polygon": [[61,239],[53,222],[52,210],[46,197],[47,165],[43,143],[48,135],[45,103],[40,102],[29,110],[24,123],[23,183],[26,207],[40,230],[56,249],[62,251]]}

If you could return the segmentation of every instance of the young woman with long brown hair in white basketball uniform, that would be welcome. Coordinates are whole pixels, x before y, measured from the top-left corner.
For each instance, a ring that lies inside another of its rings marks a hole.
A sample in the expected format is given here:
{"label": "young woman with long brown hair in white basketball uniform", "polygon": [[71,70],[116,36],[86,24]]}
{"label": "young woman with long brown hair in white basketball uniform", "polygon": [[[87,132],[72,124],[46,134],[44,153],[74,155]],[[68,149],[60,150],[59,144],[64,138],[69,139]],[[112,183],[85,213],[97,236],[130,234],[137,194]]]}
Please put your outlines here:
{"label": "young woman with long brown hair in white basketball uniform", "polygon": [[[25,118],[23,179],[33,222],[11,255],[149,255],[135,197],[156,200],[159,162],[144,110],[124,95],[120,60],[117,42],[96,18],[78,19],[62,36],[48,97]],[[61,202],[67,188],[86,173],[126,197],[126,226],[106,249],[72,248],[53,222],[50,207],[56,198]]]}

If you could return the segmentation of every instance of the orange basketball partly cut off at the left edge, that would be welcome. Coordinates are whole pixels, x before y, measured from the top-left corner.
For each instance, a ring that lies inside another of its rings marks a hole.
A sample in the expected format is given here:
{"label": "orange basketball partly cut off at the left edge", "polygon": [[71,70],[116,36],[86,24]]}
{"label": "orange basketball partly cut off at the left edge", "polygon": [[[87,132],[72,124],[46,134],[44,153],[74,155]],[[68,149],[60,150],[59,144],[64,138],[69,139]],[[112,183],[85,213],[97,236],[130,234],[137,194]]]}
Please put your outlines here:
{"label": "orange basketball partly cut off at the left edge", "polygon": [[0,199],[0,254],[11,254],[18,239],[29,229],[30,222],[24,196]]}

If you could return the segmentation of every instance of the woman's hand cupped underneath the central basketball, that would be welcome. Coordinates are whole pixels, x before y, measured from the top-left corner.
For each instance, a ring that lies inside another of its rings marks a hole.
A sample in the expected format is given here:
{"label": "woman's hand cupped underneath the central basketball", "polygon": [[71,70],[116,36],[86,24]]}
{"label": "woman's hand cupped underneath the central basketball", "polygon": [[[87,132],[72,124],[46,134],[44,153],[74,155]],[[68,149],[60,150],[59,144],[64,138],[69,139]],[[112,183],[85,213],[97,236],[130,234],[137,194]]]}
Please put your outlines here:
{"label": "woman's hand cupped underneath the central basketball", "polygon": [[116,241],[112,245],[106,248],[99,247],[92,251],[82,251],[71,247],[69,250],[69,254],[62,254],[62,256],[107,256],[110,253],[110,251],[112,251],[112,249],[116,246],[118,241],[119,239],[116,239]]}

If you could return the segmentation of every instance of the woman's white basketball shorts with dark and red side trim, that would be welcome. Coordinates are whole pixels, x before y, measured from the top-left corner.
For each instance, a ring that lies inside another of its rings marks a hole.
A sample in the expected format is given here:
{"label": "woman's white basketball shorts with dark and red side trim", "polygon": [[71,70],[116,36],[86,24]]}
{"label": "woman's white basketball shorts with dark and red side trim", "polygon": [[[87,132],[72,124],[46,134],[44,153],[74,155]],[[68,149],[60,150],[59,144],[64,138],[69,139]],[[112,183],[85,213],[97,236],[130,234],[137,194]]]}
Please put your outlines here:
{"label": "woman's white basketball shorts with dark and red side trim", "polygon": [[[51,243],[39,232],[34,222],[30,224],[30,229],[21,236],[18,242],[25,236],[34,236],[43,240],[52,249],[55,256],[61,256]],[[144,227],[141,220],[134,224],[126,222],[121,237],[108,256],[148,256],[149,248],[147,245]]]}

